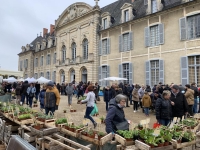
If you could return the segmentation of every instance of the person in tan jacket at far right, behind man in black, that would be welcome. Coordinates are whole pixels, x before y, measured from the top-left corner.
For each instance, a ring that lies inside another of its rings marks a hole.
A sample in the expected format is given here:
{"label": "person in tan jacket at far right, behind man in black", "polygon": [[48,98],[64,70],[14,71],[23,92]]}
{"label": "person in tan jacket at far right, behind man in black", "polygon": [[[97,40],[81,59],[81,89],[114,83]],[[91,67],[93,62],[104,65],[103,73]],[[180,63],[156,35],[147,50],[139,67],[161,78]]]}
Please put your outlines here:
{"label": "person in tan jacket at far right, behind man in black", "polygon": [[194,105],[194,91],[190,89],[190,85],[185,85],[185,98],[188,103],[188,113],[193,116],[193,105]]}

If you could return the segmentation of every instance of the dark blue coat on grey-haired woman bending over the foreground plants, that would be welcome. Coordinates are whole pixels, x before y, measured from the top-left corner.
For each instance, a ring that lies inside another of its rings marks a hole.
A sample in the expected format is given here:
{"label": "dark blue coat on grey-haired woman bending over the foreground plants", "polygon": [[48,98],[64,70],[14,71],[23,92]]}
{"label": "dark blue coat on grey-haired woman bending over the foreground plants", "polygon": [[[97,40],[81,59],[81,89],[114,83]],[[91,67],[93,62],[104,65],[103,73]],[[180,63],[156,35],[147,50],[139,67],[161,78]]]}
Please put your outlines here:
{"label": "dark blue coat on grey-haired woman bending over the foreground plants", "polygon": [[110,106],[108,108],[108,113],[106,116],[106,132],[116,132],[116,124],[126,121],[125,114],[123,108],[120,108],[116,102],[115,99],[110,100]]}

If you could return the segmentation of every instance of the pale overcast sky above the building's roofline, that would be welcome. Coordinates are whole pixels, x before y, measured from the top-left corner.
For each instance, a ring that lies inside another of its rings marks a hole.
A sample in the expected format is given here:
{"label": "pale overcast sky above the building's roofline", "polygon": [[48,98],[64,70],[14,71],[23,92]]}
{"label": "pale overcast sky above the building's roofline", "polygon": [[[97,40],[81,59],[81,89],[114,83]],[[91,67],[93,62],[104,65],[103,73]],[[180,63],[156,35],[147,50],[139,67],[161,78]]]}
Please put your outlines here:
{"label": "pale overcast sky above the building's roofline", "polygon": [[[104,7],[117,0],[100,0]],[[94,0],[2,0],[0,5],[0,66],[18,70],[18,53],[31,43],[43,28],[54,24],[58,16],[71,4]]]}

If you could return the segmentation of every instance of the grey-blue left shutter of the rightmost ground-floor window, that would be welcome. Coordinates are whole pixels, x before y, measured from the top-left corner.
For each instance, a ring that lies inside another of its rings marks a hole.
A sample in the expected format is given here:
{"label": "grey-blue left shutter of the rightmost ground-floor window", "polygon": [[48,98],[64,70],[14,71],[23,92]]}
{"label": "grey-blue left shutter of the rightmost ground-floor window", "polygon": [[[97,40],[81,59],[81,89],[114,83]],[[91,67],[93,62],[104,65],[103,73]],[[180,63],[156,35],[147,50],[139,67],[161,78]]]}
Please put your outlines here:
{"label": "grey-blue left shutter of the rightmost ground-floor window", "polygon": [[181,57],[181,84],[185,86],[188,81],[188,58]]}

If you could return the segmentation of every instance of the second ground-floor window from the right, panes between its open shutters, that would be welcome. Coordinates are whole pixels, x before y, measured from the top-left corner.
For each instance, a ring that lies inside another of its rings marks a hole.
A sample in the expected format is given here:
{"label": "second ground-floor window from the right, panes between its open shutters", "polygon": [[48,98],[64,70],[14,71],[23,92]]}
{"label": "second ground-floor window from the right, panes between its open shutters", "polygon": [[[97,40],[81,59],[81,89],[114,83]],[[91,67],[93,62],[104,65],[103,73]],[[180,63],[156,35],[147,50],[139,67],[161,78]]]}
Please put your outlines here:
{"label": "second ground-floor window from the right, panes between its open shutters", "polygon": [[150,61],[151,71],[151,85],[158,84],[159,78],[159,60]]}

